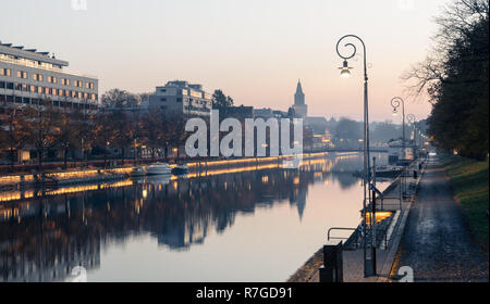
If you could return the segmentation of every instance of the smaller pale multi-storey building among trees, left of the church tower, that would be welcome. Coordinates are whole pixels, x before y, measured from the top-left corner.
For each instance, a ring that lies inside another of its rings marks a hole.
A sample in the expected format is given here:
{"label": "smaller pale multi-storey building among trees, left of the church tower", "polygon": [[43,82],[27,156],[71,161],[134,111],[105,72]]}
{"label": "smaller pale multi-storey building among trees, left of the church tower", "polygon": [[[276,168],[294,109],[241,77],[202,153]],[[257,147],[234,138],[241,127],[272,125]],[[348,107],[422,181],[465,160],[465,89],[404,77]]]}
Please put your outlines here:
{"label": "smaller pale multi-storey building among trees, left of the church tower", "polygon": [[157,87],[149,98],[149,109],[160,109],[166,113],[209,116],[212,97],[203,90],[201,85],[192,85],[183,80],[168,81]]}

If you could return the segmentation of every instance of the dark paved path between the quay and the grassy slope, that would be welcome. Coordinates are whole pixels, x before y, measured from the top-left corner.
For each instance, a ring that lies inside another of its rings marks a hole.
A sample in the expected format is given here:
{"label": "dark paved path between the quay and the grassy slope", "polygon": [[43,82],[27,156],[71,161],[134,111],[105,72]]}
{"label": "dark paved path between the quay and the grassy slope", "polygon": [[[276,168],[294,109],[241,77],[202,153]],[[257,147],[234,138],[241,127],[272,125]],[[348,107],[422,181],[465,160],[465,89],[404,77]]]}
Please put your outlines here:
{"label": "dark paved path between the quay and the grassy slope", "polygon": [[488,253],[471,241],[437,159],[428,164],[417,195],[393,274],[409,266],[415,281],[488,281]]}

